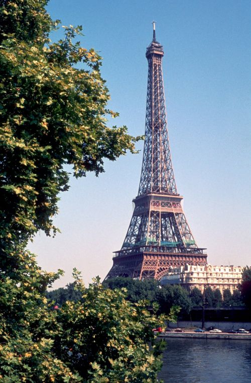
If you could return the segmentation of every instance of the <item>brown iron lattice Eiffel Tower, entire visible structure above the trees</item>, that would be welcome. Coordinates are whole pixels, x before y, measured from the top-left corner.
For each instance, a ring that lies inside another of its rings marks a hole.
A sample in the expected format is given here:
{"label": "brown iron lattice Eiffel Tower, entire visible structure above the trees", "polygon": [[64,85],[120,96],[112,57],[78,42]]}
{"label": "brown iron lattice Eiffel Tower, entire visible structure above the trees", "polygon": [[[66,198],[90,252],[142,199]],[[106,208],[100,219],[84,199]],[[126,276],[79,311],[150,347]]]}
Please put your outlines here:
{"label": "brown iron lattice Eiffel Tower, entire visible structure above the trees", "polygon": [[178,194],[168,139],[162,73],[163,46],[153,40],[147,48],[148,85],[143,164],[133,217],[120,251],[106,276],[161,279],[178,266],[206,265]]}

